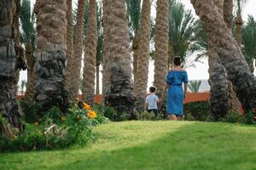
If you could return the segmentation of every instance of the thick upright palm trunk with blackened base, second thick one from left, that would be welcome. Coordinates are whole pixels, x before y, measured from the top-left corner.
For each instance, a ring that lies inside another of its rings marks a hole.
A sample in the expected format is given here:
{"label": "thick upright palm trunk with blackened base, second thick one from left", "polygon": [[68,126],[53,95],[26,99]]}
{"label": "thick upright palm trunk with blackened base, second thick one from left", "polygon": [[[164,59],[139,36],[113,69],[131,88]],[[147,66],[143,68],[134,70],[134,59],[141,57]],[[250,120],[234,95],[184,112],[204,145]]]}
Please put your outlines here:
{"label": "thick upright palm trunk with blackened base, second thick one from left", "polygon": [[67,91],[64,89],[66,13],[66,0],[45,0],[39,3],[36,100],[44,109],[56,105],[66,111],[68,106]]}

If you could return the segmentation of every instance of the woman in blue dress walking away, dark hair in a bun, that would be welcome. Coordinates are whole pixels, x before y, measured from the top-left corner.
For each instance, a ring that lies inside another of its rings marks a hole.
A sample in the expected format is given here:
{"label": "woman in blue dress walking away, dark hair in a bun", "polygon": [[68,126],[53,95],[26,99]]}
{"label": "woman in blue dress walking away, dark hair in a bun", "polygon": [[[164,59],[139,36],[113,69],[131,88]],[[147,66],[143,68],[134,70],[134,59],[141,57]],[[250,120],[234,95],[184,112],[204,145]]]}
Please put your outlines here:
{"label": "woman in blue dress walking away, dark hair in a bun", "polygon": [[[181,58],[175,57],[174,67],[168,72],[166,85],[162,93],[162,98],[167,92],[166,112],[170,120],[179,121],[183,117],[183,99],[186,97],[188,74],[181,68]],[[184,93],[183,93],[184,83]]]}

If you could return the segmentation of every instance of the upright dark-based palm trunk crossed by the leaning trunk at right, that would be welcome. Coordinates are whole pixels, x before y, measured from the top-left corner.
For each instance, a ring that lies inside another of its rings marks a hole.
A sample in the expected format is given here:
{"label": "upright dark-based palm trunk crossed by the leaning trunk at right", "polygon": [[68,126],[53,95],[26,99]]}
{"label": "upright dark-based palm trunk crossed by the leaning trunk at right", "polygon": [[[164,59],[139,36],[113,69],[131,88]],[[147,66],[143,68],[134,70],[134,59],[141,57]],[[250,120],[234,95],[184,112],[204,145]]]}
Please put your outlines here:
{"label": "upright dark-based palm trunk crossed by the leaning trunk at right", "polygon": [[[215,1],[220,14],[224,14],[226,25],[231,29],[232,27],[232,2],[230,0]],[[228,11],[231,10],[231,11]],[[231,15],[230,15],[231,14]],[[215,120],[224,117],[228,111],[238,111],[238,104],[235,102],[236,93],[233,91],[232,83],[228,81],[227,73],[224,65],[221,64],[218,54],[214,50],[212,39],[208,43],[208,56],[209,56],[209,84],[211,86],[211,113]],[[237,104],[237,105],[236,105]]]}

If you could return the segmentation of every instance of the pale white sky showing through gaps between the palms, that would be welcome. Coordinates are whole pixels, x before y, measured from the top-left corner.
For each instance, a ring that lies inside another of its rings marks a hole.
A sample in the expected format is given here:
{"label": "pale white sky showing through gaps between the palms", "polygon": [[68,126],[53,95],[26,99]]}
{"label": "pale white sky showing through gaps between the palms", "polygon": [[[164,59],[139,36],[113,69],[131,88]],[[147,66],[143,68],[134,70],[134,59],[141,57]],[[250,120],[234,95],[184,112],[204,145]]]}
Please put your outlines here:
{"label": "pale white sky showing through gaps between the palms", "polygon": [[[32,4],[35,2],[35,0],[32,0]],[[194,14],[195,10],[190,3],[190,0],[181,0],[181,2],[184,4],[185,8],[191,9]],[[73,0],[73,3],[77,3],[77,0]],[[73,5],[74,6],[74,5]],[[247,0],[247,3],[243,9],[242,18],[243,20],[247,20],[247,15],[252,14],[253,17],[256,19],[256,0]],[[155,16],[155,8],[152,9],[152,15]],[[193,56],[192,56],[193,57]],[[189,75],[189,80],[206,80],[209,77],[208,74],[208,64],[207,59],[203,59],[203,63],[195,63],[194,67],[186,68]],[[256,71],[254,72],[256,75]],[[20,81],[26,80],[26,71],[22,71],[20,73]],[[150,61],[149,63],[149,73],[148,73],[148,87],[152,85],[152,82],[154,82],[154,62]]]}

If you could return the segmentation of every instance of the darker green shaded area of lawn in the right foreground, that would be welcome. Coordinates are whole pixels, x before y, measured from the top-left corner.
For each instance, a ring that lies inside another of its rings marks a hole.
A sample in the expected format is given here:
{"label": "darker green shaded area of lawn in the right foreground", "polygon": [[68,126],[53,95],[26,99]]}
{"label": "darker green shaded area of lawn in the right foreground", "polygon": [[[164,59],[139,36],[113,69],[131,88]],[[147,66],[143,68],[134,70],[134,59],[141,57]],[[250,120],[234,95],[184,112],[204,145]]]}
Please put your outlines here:
{"label": "darker green shaded area of lawn in the right foreground", "polygon": [[254,127],[190,123],[160,139],[119,150],[81,154],[52,169],[253,169]]}

